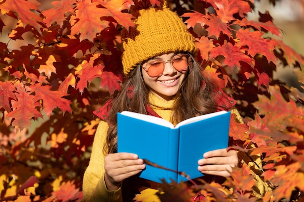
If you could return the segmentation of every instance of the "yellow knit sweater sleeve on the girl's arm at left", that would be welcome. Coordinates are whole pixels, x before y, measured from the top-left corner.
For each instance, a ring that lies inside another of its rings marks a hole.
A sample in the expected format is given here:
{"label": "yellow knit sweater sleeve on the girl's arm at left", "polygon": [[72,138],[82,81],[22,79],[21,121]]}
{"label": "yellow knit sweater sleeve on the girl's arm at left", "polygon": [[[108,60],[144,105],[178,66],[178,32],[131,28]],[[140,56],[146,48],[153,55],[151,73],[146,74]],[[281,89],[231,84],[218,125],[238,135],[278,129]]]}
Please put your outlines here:
{"label": "yellow knit sweater sleeve on the girl's arm at left", "polygon": [[104,182],[104,155],[108,124],[104,121],[98,125],[93,141],[90,162],[84,172],[83,202],[122,202],[121,188],[109,191]]}

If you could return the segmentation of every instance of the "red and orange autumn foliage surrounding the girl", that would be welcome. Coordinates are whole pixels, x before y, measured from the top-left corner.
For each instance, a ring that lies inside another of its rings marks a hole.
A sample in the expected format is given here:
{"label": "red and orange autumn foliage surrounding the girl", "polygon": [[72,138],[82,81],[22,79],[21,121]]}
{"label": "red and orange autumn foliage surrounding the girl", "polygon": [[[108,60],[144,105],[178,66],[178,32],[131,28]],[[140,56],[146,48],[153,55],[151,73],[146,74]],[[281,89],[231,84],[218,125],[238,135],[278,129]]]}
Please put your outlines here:
{"label": "red and orange autumn foliage surrounding the girl", "polygon": [[[242,166],[226,186],[182,184],[172,189],[164,184],[162,200],[173,195],[189,201],[198,193],[204,201],[301,198],[303,56],[281,43],[282,31],[267,13],[257,23],[244,20],[253,0],[171,3],[180,15],[185,8],[201,13],[183,16],[198,41],[205,71],[238,102],[245,124],[231,126],[234,148],[262,155],[261,177],[274,188],[256,199],[253,175]],[[119,90],[119,32],[121,26],[133,26],[132,4],[139,8],[159,1],[0,1],[0,201],[81,200],[82,177],[100,121],[92,112]],[[288,68],[292,82],[277,80],[278,68]],[[256,149],[248,149],[249,143]],[[187,194],[177,194],[183,189]]]}

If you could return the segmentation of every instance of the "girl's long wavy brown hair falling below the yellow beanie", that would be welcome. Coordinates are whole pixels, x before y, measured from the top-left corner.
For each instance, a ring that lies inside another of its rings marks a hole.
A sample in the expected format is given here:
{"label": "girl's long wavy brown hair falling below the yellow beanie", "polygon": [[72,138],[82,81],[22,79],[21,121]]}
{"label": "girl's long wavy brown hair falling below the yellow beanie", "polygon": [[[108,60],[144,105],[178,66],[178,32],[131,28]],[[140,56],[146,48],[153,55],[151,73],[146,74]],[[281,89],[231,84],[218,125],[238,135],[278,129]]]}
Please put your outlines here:
{"label": "girl's long wavy brown hair falling below the yellow beanie", "polygon": [[[219,106],[215,102],[217,86],[203,74],[203,68],[191,55],[191,64],[187,77],[178,93],[173,106],[172,122],[179,123],[188,118],[215,112]],[[142,78],[141,66],[130,72],[122,85],[121,91],[112,100],[109,111],[105,154],[117,152],[117,113],[123,110],[147,114],[146,106],[149,104],[149,87]],[[129,95],[132,89],[132,96]]]}

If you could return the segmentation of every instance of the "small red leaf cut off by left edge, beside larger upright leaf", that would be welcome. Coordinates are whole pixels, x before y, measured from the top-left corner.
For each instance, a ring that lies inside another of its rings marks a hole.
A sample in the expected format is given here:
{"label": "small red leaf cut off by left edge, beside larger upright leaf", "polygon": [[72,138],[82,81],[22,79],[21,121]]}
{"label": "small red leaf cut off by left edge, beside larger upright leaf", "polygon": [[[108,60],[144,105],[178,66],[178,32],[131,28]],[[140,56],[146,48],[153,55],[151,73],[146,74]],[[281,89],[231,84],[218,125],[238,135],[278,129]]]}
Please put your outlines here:
{"label": "small red leaf cut off by left edge, beside larger upright leaf", "polygon": [[16,87],[11,82],[0,81],[0,106],[7,112],[11,110],[10,99],[16,100],[14,91],[16,91]]}

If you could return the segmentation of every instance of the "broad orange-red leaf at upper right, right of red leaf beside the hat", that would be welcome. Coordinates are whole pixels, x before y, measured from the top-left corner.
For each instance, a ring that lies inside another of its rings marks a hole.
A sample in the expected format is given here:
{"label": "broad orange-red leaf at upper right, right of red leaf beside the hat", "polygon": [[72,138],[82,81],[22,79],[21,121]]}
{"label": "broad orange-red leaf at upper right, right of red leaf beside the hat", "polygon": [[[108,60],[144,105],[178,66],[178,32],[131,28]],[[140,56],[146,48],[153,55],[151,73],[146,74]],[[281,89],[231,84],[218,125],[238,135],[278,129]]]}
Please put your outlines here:
{"label": "broad orange-red leaf at upper right, right of red leaf beside the hat", "polygon": [[236,32],[236,37],[239,38],[240,46],[248,46],[248,54],[254,57],[256,54],[262,54],[267,57],[268,62],[278,64],[273,50],[278,46],[278,42],[272,39],[264,39],[260,31],[249,31],[248,29]]}

